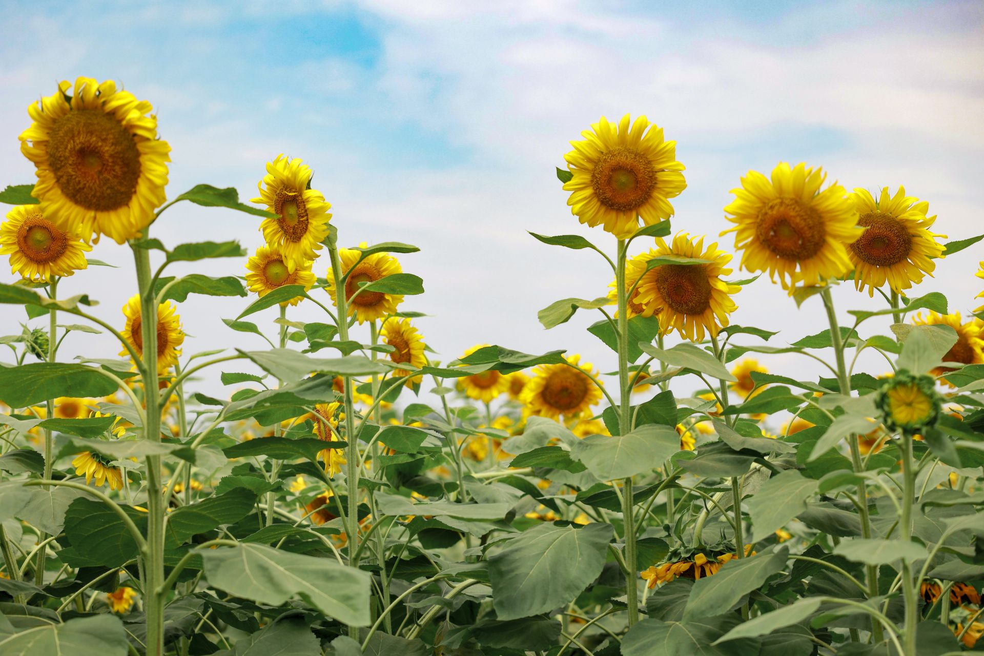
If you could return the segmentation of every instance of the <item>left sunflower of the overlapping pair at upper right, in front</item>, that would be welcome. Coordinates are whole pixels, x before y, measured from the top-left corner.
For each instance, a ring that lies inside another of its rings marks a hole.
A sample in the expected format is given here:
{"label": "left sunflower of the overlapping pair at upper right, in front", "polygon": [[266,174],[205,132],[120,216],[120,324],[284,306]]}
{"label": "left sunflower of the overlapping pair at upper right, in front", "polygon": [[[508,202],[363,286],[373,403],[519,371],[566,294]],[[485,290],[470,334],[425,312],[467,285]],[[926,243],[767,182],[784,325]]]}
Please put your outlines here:
{"label": "left sunflower of the overlapping pair at upper right, in front", "polygon": [[735,233],[742,268],[778,275],[784,287],[820,284],[850,270],[847,245],[861,234],[857,211],[837,183],[821,191],[826,177],[820,167],[781,162],[771,181],[758,171],[741,179],[724,208],[736,225],[721,234]]}

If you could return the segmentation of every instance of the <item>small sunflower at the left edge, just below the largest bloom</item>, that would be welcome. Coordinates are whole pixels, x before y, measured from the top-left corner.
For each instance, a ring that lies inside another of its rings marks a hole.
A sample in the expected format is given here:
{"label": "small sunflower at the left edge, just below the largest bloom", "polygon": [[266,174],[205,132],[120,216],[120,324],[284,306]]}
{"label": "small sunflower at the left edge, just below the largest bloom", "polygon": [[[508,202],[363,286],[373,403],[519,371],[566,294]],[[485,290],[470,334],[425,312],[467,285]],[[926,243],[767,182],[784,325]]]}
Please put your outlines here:
{"label": "small sunflower at the left edge, just below the largest bloom", "polygon": [[11,271],[29,280],[46,281],[89,267],[86,251],[92,246],[57,227],[36,205],[11,209],[0,224],[0,255],[9,255]]}

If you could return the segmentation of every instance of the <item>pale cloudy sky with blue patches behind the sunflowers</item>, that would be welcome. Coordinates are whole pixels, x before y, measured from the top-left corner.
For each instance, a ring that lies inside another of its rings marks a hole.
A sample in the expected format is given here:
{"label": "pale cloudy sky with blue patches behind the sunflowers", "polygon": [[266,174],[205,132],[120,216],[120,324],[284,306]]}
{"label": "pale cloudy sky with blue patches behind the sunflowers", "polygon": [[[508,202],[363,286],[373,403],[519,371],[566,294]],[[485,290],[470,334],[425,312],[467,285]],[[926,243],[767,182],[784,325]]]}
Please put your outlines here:
{"label": "pale cloudy sky with blue patches behind the sunflowers", "polygon": [[[602,115],[645,114],[677,142],[688,188],[673,201],[674,231],[706,234],[727,251],[732,235],[717,235],[730,225],[729,190],[779,161],[823,166],[848,189],[904,185],[929,201],[951,239],[984,231],[980,2],[0,0],[0,11],[0,188],[33,180],[17,139],[31,102],[61,80],[115,80],[154,104],[172,147],[169,198],[199,183],[253,198],[266,162],[282,152],[313,168],[342,245],[420,247],[400,262],[426,293],[401,309],[428,315],[416,323],[444,361],[497,343],[567,349],[602,372],[616,368],[615,354],[584,330],[600,315],[549,331],[536,320],[555,300],[606,293],[610,270],[592,252],[526,233],[581,234],[614,251],[614,238],[571,214],[555,174],[569,142]],[[169,246],[238,239],[252,252],[262,245],[259,221],[180,204],[152,234]],[[92,257],[119,268],[81,271],[59,293],[90,293],[96,313],[122,328],[120,308],[136,293],[132,257],[108,239]],[[912,294],[942,291],[966,313],[980,304],[980,260],[984,244],[955,254]],[[174,272],[244,274],[245,261]],[[326,257],[315,271],[327,267]],[[0,281],[14,279],[2,263]],[[179,308],[185,355],[260,348],[259,337],[220,322],[251,300],[189,297]],[[819,299],[797,310],[765,278],[735,300],[732,323],[780,330],[769,345],[824,328]],[[848,285],[835,301],[841,312],[876,303]],[[321,321],[320,312],[306,303],[288,318]],[[254,319],[273,333],[276,316]],[[25,320],[3,310],[0,334]],[[887,323],[862,334],[875,331]],[[60,359],[118,350],[110,335],[79,333]],[[780,373],[814,369],[796,355],[765,362]],[[216,377],[203,388],[220,391]]]}

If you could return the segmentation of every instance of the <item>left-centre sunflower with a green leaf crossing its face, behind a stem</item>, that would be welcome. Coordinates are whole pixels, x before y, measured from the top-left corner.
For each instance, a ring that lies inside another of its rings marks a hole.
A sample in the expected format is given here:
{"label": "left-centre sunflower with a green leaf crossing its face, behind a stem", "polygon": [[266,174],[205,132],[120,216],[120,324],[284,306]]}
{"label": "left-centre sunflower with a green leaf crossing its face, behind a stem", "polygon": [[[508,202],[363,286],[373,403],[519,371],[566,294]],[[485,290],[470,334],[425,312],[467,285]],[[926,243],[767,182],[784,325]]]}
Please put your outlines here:
{"label": "left-centre sunflower with a green leaf crossing its face, behind a stem", "polygon": [[[359,248],[365,247],[365,242],[359,244]],[[397,306],[403,302],[402,294],[359,291],[362,282],[374,282],[387,275],[403,271],[400,262],[386,253],[373,253],[359,262],[361,255],[361,251],[353,248],[338,249],[341,273],[342,275],[348,274],[348,277],[345,278],[348,316],[355,315],[359,324],[388,317],[394,314],[397,311]],[[338,289],[336,289],[335,271],[332,268],[328,269],[328,293],[331,294],[332,301],[338,305]]]}

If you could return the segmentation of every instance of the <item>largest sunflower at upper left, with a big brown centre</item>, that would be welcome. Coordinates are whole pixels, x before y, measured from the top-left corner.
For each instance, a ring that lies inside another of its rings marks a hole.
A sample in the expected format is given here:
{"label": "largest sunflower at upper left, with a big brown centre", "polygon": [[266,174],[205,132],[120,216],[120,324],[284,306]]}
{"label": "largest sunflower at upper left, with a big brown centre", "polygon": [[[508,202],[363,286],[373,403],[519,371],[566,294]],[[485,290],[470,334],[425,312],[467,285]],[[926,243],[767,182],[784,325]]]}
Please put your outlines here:
{"label": "largest sunflower at upper left, with a big brown centre", "polygon": [[167,142],[157,139],[157,118],[147,100],[116,83],[78,78],[28,107],[31,127],[21,152],[36,167],[31,195],[45,216],[88,244],[109,235],[137,237],[154,220],[167,185]]}

